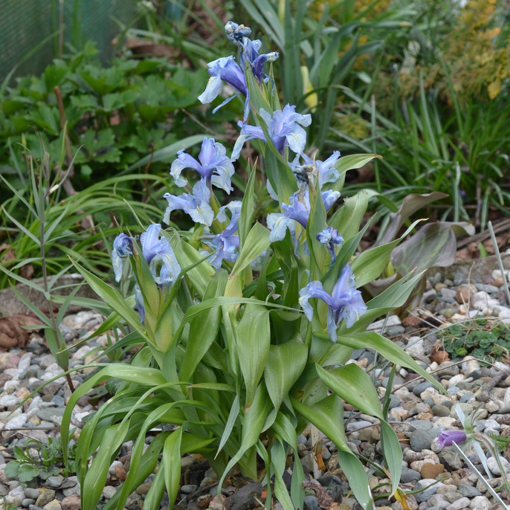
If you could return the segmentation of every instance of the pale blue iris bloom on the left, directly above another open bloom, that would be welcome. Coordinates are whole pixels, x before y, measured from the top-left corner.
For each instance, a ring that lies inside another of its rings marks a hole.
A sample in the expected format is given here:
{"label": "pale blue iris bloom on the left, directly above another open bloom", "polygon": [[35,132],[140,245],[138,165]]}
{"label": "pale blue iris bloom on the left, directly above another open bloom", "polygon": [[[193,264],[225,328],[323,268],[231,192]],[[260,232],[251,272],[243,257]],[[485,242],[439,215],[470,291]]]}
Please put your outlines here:
{"label": "pale blue iris bloom on the left, directly above another open bloom", "polygon": [[226,156],[225,147],[214,138],[204,137],[198,160],[186,154],[184,149],[177,152],[177,159],[172,163],[170,175],[175,180],[175,184],[181,188],[188,184],[188,181],[181,177],[181,172],[186,168],[197,171],[208,186],[216,186],[228,194],[233,189],[231,177],[234,175],[234,165]]}

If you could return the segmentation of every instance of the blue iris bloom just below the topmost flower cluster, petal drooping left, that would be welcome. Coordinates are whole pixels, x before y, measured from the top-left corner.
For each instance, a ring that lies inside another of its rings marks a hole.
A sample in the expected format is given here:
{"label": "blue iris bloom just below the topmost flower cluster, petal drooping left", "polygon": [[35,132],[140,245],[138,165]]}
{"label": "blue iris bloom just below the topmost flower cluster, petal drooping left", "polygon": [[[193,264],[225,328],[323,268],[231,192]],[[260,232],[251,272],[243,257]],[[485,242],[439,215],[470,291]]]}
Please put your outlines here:
{"label": "blue iris bloom just below the topmost flower cluster, petal drooping left", "polygon": [[[296,154],[301,154],[307,143],[307,133],[301,126],[309,126],[312,122],[310,114],[296,113],[294,105],[286,105],[283,110],[275,110],[272,114],[260,109],[260,116],[267,126],[267,132],[274,146],[283,154],[285,147],[289,146]],[[261,127],[252,126],[241,121],[238,122],[241,133],[234,145],[232,159],[237,159],[244,142],[259,138],[267,142]]]}

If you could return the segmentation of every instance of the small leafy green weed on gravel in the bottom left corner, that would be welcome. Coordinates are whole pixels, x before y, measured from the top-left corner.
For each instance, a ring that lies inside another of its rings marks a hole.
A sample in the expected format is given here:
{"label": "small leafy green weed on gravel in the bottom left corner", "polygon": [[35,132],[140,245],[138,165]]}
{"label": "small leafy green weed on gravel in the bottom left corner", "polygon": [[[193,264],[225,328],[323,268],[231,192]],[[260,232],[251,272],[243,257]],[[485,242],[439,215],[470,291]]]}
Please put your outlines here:
{"label": "small leafy green weed on gravel in the bottom left corner", "polygon": [[[61,471],[64,476],[69,476],[74,470],[67,470],[64,463],[62,443],[60,438],[48,438],[47,443],[30,439],[24,444],[24,449],[15,446],[15,461],[11,461],[5,467],[5,474],[9,478],[17,478],[20,482],[28,482],[39,476],[47,479],[58,475]],[[71,446],[68,455],[74,458],[76,445]],[[73,466],[73,463],[68,463]]]}

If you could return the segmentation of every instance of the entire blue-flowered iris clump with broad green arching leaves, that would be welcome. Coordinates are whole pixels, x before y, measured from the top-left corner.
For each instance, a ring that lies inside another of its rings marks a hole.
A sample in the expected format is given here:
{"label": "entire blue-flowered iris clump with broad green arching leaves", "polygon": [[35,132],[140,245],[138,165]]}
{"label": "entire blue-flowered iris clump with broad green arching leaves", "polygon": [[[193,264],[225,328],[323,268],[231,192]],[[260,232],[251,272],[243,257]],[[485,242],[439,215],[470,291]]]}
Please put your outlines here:
{"label": "entire blue-flowered iris clump with broad green arching leaves", "polygon": [[[117,392],[87,421],[78,441],[84,510],[95,509],[108,468],[126,441],[134,441],[130,470],[105,509],[122,509],[156,469],[144,508],[158,508],[165,491],[173,503],[180,456],[190,452],[205,456],[216,471],[218,494],[226,475],[237,470],[265,484],[267,508],[274,500],[285,510],[303,508],[297,436],[308,423],[336,444],[355,497],[372,509],[364,463],[347,443],[344,402],[380,421],[384,463],[373,468],[391,478],[392,493],[400,479],[401,447],[371,377],[348,363],[349,357],[353,349],[371,348],[437,385],[402,349],[366,331],[375,318],[405,302],[420,275],[408,274],[377,297],[364,298],[361,287],[387,267],[398,240],[356,253],[366,200],[362,192],[344,198],[340,207],[340,193],[345,172],[375,155],[340,158],[334,152],[319,160],[304,154],[311,117],[279,103],[272,74],[264,68],[277,54],[259,54],[260,42],[249,39],[243,25],[229,22],[226,32],[241,59],[222,62],[233,68],[236,63],[236,83],[245,83],[234,87],[247,105],[240,138],[230,157],[211,138],[203,140],[198,159],[179,152],[170,175],[186,192],[165,195],[163,222],[171,225],[173,211],[183,210],[194,226],[179,230],[154,223],[140,237],[119,234],[112,263],[117,281],[133,282],[127,299],[75,263],[112,307],[97,334],[123,321],[132,332],[116,347],[139,348],[129,364],[100,365],[73,393],[62,442],[66,448],[78,399],[116,378],[122,381]],[[209,64],[212,78],[200,96],[203,103],[222,93],[219,82],[233,85],[234,74],[225,69]],[[254,183],[262,170],[257,164],[248,168],[243,194],[231,182],[248,139],[278,204],[279,212],[264,218],[267,226],[253,218]],[[230,193],[238,198],[221,206]],[[160,431],[145,449],[147,433],[155,428]],[[287,469],[290,492],[283,478]]]}

